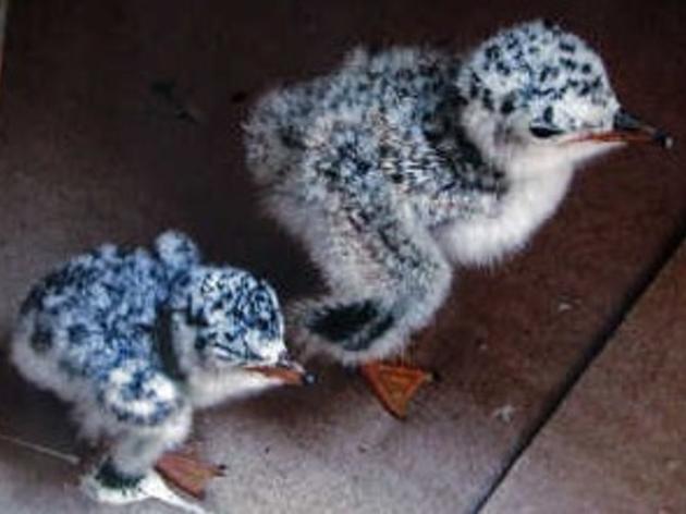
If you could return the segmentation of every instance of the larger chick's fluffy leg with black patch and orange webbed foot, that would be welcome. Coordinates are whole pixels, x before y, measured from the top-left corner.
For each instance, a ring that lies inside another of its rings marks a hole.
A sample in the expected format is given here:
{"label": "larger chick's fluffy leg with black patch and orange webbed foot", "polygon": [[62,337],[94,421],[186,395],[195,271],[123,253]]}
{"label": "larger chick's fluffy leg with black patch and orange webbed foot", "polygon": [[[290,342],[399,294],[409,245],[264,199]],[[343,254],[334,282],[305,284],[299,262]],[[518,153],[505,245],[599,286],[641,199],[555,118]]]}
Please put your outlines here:
{"label": "larger chick's fluffy leg with black patch and orange webbed foot", "polygon": [[375,207],[348,205],[318,219],[309,246],[330,293],[292,305],[291,320],[307,350],[360,366],[387,409],[404,417],[430,375],[383,359],[401,354],[413,331],[430,321],[451,269],[424,228],[390,205]]}

